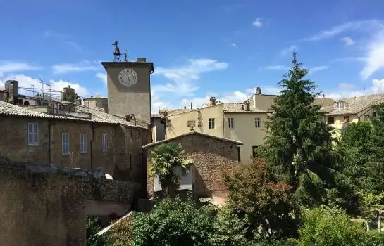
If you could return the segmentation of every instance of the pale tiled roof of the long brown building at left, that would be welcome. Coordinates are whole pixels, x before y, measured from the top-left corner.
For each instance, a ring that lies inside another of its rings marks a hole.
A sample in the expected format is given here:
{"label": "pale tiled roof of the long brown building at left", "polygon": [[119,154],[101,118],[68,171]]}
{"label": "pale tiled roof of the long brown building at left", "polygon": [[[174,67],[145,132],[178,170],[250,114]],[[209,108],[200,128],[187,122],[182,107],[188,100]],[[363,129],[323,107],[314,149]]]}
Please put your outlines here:
{"label": "pale tiled roof of the long brown building at left", "polygon": [[134,126],[134,125],[130,124],[129,122],[127,122],[125,119],[121,119],[121,118],[116,117],[114,115],[109,115],[106,112],[101,112],[97,109],[92,109],[92,108],[88,108],[85,106],[77,105],[76,110],[78,112],[90,113],[91,119],[82,118],[82,117],[64,116],[64,115],[49,115],[49,114],[46,114],[44,112],[36,112],[36,111],[32,110],[31,108],[20,107],[18,105],[13,105],[11,103],[6,103],[3,101],[0,101],[0,115],[75,120],[75,121],[80,121],[80,122],[99,122],[99,123],[105,123],[105,124],[123,124],[125,126],[130,126],[130,127],[145,128],[145,127],[141,127],[141,126]]}

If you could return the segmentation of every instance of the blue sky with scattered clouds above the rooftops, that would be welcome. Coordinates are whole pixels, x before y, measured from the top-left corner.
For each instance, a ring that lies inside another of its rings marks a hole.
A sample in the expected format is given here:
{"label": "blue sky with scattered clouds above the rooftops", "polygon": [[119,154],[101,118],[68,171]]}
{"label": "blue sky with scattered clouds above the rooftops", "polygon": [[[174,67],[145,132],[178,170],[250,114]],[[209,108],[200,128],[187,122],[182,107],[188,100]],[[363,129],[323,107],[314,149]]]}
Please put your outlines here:
{"label": "blue sky with scattered clouds above the rooftops", "polygon": [[[384,1],[0,0],[0,87],[106,96],[112,42],[147,57],[153,112],[278,93],[292,49],[327,96],[384,93]],[[365,89],[364,89],[365,88]]]}

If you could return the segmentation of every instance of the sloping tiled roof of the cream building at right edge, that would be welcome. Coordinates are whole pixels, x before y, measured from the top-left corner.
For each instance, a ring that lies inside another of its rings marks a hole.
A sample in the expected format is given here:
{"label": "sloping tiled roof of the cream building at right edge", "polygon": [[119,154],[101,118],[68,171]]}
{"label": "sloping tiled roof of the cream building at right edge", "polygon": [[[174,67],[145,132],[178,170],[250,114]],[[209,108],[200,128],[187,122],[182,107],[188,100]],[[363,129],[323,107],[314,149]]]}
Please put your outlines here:
{"label": "sloping tiled roof of the cream building at right edge", "polygon": [[[337,102],[341,101],[345,102],[344,108],[337,108]],[[328,115],[353,115],[380,103],[384,103],[384,94],[343,98],[328,107],[321,108],[321,111],[328,113]]]}

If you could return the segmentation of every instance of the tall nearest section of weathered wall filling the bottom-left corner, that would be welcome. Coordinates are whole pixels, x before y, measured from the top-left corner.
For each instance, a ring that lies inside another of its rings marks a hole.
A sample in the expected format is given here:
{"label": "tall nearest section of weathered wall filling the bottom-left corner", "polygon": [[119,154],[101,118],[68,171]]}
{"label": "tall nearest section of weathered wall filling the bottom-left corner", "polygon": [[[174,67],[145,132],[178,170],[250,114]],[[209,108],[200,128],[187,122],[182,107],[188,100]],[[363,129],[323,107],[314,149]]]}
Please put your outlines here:
{"label": "tall nearest section of weathered wall filling the bottom-left corner", "polygon": [[85,200],[65,176],[0,168],[1,245],[85,245]]}

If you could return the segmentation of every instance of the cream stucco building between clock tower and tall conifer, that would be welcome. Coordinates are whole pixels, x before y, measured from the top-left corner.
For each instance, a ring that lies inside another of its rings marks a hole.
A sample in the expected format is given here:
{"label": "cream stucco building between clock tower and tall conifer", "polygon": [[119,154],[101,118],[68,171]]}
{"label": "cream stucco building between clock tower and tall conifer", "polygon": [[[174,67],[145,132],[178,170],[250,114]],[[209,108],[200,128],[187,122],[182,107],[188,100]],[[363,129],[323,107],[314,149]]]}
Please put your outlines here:
{"label": "cream stucco building between clock tower and tall conifer", "polygon": [[[223,103],[212,97],[202,108],[169,110],[166,112],[166,138],[197,131],[240,141],[243,145],[238,147],[238,160],[248,163],[264,143],[267,115],[273,111],[271,105],[276,97],[262,94],[258,87],[244,103]],[[330,98],[314,101],[322,106],[333,102]]]}

